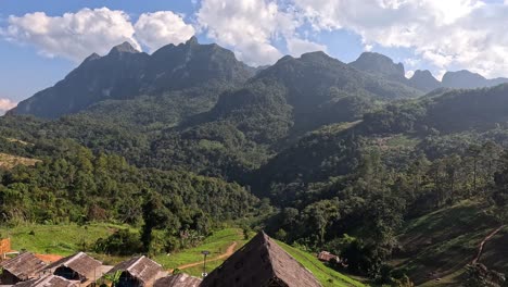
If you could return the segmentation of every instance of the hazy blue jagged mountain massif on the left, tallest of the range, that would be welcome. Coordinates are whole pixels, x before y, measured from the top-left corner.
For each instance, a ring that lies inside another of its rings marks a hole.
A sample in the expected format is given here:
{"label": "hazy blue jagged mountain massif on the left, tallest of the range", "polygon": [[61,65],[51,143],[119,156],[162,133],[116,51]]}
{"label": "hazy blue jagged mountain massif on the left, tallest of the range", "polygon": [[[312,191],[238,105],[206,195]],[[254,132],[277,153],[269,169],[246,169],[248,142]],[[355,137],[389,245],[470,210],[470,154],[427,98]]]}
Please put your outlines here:
{"label": "hazy blue jagged mountain massif on the left, tallest of the range", "polygon": [[237,61],[217,45],[199,45],[195,38],[165,46],[149,55],[124,42],[109,54],[88,57],[54,87],[37,92],[11,111],[56,118],[104,100],[158,96],[198,87],[241,85],[254,68]]}

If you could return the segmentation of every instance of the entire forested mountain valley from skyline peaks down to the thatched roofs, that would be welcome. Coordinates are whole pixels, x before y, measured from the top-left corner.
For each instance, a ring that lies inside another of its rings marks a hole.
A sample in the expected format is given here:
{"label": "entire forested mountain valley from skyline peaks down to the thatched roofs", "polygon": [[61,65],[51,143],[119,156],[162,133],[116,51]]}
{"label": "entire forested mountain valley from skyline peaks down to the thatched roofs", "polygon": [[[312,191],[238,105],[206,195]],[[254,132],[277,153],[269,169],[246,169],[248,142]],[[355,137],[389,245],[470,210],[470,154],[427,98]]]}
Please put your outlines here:
{"label": "entire forested mountain valley from skyline peaks down to the thatched roofs", "polygon": [[405,75],[371,52],[254,68],[194,37],[91,54],[0,117],[0,234],[200,276],[265,230],[322,286],[500,286],[508,84]]}

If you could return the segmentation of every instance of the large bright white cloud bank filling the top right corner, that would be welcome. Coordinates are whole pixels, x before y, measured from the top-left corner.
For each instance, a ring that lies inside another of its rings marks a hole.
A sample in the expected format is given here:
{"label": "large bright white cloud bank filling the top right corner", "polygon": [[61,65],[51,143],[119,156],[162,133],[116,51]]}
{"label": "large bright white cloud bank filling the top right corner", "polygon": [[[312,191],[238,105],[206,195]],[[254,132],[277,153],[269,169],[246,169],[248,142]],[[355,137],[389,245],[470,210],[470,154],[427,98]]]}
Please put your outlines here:
{"label": "large bright white cloud bank filling the top right corner", "polygon": [[442,71],[508,71],[503,3],[480,0],[293,0],[315,30],[348,29],[366,43],[410,48]]}

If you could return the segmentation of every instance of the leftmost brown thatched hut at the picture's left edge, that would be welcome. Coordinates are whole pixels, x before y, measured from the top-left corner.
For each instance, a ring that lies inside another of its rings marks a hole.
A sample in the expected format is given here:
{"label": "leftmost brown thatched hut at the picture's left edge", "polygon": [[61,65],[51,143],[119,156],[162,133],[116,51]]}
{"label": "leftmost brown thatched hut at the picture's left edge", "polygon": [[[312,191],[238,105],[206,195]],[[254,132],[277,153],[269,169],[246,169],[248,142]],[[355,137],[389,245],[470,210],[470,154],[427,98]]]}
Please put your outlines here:
{"label": "leftmost brown thatched hut at the picture's left edge", "polygon": [[0,267],[2,269],[0,283],[2,285],[14,285],[37,277],[38,273],[46,267],[46,264],[33,253],[24,252],[1,262]]}

